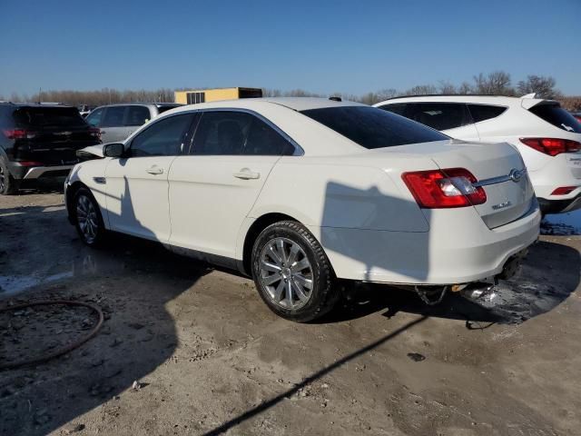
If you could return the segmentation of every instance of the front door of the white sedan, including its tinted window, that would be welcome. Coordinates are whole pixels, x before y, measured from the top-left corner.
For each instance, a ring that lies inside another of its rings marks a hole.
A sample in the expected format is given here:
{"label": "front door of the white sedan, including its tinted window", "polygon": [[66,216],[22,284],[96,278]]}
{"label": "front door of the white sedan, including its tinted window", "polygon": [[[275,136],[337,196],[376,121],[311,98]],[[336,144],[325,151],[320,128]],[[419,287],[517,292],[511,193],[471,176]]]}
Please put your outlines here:
{"label": "front door of the white sedan, including its tinted window", "polygon": [[126,144],[126,155],[107,165],[105,191],[113,231],[168,241],[168,174],[182,153],[192,118],[176,114],[152,123]]}

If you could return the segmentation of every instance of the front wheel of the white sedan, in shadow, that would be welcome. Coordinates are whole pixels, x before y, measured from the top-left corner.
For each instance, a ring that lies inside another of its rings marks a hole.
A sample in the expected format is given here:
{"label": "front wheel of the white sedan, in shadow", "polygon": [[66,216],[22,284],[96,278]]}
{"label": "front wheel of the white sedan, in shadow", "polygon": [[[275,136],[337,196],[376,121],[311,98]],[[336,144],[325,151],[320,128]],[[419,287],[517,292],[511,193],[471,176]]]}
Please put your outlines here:
{"label": "front wheel of the white sedan, in shadow", "polygon": [[89,246],[99,246],[105,237],[105,227],[99,204],[86,188],[74,193],[74,226],[81,240]]}

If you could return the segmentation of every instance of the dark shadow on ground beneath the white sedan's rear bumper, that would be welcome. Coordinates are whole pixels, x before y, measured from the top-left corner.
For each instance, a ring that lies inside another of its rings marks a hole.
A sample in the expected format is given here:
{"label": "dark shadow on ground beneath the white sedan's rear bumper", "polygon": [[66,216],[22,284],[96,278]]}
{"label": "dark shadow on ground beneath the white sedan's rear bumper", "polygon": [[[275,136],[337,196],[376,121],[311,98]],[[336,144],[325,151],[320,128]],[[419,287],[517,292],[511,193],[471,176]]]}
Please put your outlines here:
{"label": "dark shadow on ground beneath the white sedan's rear bumper", "polygon": [[[547,252],[550,251],[550,258]],[[346,284],[346,298],[319,322],[348,321],[382,312],[388,318],[399,312],[466,322],[468,329],[491,323],[517,324],[553,310],[576,290],[580,277],[579,253],[566,245],[539,242],[530,248],[517,275],[478,295],[448,292],[442,302],[429,306],[413,292],[378,284]],[[478,285],[486,290],[487,285]]]}

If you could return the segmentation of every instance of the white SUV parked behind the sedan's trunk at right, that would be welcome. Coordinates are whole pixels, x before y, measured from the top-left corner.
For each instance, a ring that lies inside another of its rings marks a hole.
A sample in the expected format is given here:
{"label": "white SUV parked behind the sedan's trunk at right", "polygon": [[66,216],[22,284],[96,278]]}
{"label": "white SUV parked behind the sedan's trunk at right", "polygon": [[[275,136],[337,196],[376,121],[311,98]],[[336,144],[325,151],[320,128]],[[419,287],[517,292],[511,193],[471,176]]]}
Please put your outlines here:
{"label": "white SUV parked behind the sedan's trunk at right", "polygon": [[581,208],[581,124],[557,102],[484,95],[424,95],[375,104],[453,138],[517,147],[543,213]]}

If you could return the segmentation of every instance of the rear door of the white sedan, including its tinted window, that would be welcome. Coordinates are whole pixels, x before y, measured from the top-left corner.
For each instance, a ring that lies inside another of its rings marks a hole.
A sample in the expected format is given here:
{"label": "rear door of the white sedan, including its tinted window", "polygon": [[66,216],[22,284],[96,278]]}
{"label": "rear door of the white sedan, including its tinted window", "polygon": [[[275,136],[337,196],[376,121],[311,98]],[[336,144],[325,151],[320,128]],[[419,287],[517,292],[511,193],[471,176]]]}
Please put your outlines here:
{"label": "rear door of the white sedan, including its tinted window", "polygon": [[234,258],[241,223],[273,165],[295,147],[254,114],[206,111],[170,171],[172,245]]}

